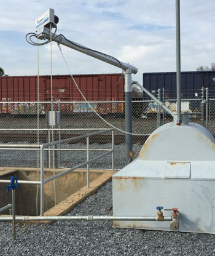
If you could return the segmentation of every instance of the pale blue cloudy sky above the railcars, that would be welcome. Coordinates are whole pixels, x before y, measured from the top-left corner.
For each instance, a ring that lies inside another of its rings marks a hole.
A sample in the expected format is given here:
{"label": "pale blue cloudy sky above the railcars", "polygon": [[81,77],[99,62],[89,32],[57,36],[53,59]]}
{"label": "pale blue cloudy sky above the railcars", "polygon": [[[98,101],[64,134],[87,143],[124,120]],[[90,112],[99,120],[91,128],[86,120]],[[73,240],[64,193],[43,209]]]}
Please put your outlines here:
{"label": "pale blue cloudy sky above the railcars", "polygon": [[[9,76],[37,74],[37,47],[25,36],[52,8],[57,34],[112,55],[143,73],[176,71],[175,0],[1,0],[0,66]],[[181,71],[215,62],[215,1],[181,0]],[[42,42],[42,41],[41,41]],[[115,66],[62,46],[72,74],[121,73]],[[68,74],[57,43],[53,74]],[[39,74],[50,74],[50,44],[39,47]]]}

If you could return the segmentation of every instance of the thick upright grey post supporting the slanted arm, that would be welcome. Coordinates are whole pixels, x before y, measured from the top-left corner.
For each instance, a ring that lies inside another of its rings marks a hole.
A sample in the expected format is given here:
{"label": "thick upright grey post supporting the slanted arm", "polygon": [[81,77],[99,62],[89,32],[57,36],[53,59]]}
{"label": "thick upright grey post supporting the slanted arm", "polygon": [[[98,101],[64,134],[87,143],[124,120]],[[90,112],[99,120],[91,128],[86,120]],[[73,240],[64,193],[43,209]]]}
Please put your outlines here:
{"label": "thick upright grey post supporting the slanted arm", "polygon": [[132,151],[132,79],[131,69],[125,70],[125,161],[129,160],[129,152]]}

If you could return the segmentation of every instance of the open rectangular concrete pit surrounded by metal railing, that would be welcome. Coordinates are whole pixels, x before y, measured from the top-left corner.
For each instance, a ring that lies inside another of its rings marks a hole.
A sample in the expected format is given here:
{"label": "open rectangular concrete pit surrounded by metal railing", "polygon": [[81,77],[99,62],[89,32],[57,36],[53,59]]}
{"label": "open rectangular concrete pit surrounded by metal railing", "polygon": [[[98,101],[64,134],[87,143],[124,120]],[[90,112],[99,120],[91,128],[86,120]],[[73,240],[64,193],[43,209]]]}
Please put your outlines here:
{"label": "open rectangular concrete pit surrounded by metal railing", "polygon": [[[55,169],[55,175],[63,172],[65,169]],[[62,215],[71,210],[79,202],[87,198],[88,195],[95,191],[104,183],[111,180],[114,170],[90,170],[90,188],[87,184],[87,171],[85,169],[77,169],[69,174],[63,175],[51,182],[45,183],[44,186],[44,215]],[[9,180],[10,176],[17,176],[18,180],[40,180],[40,170],[33,168],[0,168],[0,179]],[[53,176],[53,170],[45,169],[44,178]],[[56,206],[54,181],[56,191]],[[0,183],[0,208],[12,202],[11,191],[6,192],[9,183]],[[38,191],[38,192],[37,192]],[[35,216],[40,214],[40,185],[18,184],[16,192],[16,215]],[[37,195],[38,193],[38,195]],[[37,198],[37,199],[36,199]],[[38,209],[36,210],[36,200]],[[2,212],[9,214],[9,210]]]}

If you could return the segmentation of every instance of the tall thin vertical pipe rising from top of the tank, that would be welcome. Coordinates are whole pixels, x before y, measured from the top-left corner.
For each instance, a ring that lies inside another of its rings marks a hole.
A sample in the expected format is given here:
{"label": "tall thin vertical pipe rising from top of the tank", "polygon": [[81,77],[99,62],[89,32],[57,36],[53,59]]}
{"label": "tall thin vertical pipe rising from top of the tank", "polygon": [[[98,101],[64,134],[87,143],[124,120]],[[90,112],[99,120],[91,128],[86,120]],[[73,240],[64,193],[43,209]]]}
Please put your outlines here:
{"label": "tall thin vertical pipe rising from top of the tank", "polygon": [[181,124],[181,42],[180,42],[180,0],[176,0],[176,83],[177,123]]}

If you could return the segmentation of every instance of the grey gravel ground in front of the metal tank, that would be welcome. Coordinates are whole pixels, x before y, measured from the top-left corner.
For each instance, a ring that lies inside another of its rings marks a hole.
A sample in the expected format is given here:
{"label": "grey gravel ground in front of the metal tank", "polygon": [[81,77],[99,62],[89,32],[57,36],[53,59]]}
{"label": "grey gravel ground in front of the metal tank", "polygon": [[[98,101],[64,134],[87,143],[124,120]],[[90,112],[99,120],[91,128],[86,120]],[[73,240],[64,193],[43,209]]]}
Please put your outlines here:
{"label": "grey gravel ground in front of the metal tank", "polygon": [[[109,182],[68,215],[112,215]],[[215,255],[213,234],[113,228],[111,222],[53,222],[50,225],[0,222],[1,255]]]}

